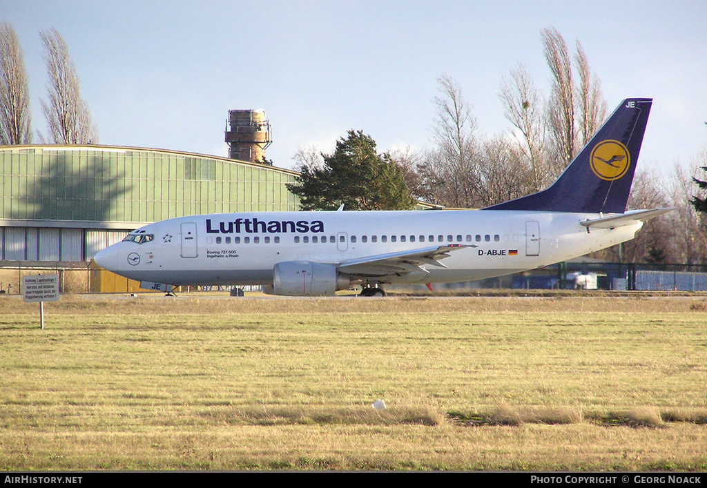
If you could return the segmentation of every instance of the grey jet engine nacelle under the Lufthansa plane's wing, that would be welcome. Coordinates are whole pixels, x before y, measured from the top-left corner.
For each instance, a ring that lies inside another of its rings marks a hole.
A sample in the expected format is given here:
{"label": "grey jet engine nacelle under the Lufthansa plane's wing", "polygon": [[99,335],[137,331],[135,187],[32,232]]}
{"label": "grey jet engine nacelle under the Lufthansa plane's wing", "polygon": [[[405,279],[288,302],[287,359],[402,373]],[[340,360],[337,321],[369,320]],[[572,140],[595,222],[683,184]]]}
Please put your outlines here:
{"label": "grey jet engine nacelle under the Lufthansa plane's wing", "polygon": [[273,286],[265,286],[268,294],[286,296],[333,295],[351,285],[346,274],[339,273],[334,265],[320,262],[279,262],[273,269]]}

